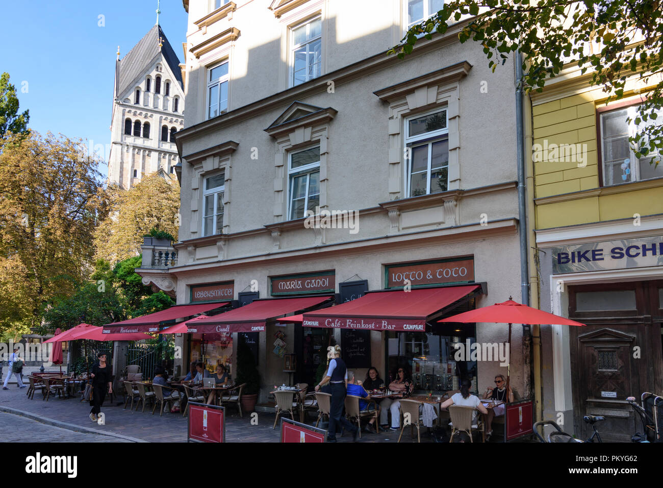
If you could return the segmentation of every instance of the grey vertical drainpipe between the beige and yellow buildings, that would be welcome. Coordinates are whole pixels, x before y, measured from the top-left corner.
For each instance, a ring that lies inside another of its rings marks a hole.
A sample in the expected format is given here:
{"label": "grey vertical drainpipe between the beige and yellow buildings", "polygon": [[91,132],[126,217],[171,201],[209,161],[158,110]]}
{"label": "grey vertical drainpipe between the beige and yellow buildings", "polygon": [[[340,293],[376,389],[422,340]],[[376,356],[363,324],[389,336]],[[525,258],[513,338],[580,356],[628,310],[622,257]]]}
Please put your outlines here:
{"label": "grey vertical drainpipe between the beige and yellow buildings", "polygon": [[[516,50],[516,157],[518,159],[518,237],[520,238],[520,297],[524,305],[530,304],[530,286],[529,286],[529,247],[527,245],[527,187],[525,175],[525,136],[524,121],[522,114],[522,57],[520,50]],[[538,326],[534,326],[534,335],[538,337]],[[532,361],[531,347],[532,333],[529,325],[522,326],[523,341],[523,366],[526,372],[525,376],[525,394],[531,398],[532,389],[532,364],[534,365],[534,405],[536,408],[536,417],[539,417],[541,405],[539,368],[538,362]],[[536,353],[535,353],[536,355]],[[536,355],[538,356],[538,355]],[[529,373],[529,374],[527,374]]]}

